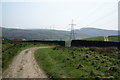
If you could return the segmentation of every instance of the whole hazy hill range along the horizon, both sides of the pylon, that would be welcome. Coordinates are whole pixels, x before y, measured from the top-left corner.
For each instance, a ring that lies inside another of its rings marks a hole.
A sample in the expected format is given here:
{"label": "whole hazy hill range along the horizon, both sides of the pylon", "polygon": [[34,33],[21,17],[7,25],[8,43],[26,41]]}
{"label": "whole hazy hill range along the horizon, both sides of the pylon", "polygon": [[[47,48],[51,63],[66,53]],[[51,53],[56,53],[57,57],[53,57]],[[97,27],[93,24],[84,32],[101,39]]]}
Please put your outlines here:
{"label": "whole hazy hill range along the horizon, both sides of the pylon", "polygon": [[[2,28],[2,35],[13,38],[25,38],[28,40],[68,40],[70,37],[70,31],[63,30],[50,30],[50,29],[14,29],[14,28]],[[118,35],[117,30],[104,30],[98,28],[81,28],[75,30],[75,36],[77,39],[97,37],[97,36],[110,36]]]}

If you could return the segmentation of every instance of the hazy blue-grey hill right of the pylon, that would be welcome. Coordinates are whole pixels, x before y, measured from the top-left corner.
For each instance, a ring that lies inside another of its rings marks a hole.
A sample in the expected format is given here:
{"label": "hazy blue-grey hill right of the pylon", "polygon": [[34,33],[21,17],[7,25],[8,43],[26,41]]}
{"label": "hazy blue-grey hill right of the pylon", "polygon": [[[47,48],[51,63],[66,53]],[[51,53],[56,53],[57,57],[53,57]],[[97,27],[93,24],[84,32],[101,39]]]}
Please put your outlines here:
{"label": "hazy blue-grey hill right of the pylon", "polygon": [[75,33],[78,38],[118,35],[117,30],[104,30],[104,29],[98,29],[98,28],[81,28],[81,29],[75,30]]}

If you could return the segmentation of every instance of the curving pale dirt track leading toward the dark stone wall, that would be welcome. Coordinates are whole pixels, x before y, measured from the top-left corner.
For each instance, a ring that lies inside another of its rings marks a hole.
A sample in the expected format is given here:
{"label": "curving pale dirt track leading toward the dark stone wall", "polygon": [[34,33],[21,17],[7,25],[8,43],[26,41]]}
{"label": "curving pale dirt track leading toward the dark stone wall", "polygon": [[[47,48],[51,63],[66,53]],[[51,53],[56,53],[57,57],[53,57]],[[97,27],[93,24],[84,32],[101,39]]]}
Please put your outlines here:
{"label": "curving pale dirt track leading toward the dark stone wall", "polygon": [[23,50],[14,58],[12,64],[3,73],[3,78],[47,78],[34,57],[35,50],[41,48],[52,47],[34,47]]}

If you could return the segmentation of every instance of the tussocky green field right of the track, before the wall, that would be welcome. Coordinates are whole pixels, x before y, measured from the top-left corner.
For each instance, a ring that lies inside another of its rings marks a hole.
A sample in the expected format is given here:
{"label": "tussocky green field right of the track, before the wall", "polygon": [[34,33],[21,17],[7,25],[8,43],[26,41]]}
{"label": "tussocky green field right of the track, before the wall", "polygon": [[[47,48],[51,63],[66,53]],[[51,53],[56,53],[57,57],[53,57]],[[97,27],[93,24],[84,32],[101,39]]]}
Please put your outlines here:
{"label": "tussocky green field right of the track, before the wall", "polygon": [[120,78],[117,48],[56,47],[40,49],[35,58],[51,78]]}

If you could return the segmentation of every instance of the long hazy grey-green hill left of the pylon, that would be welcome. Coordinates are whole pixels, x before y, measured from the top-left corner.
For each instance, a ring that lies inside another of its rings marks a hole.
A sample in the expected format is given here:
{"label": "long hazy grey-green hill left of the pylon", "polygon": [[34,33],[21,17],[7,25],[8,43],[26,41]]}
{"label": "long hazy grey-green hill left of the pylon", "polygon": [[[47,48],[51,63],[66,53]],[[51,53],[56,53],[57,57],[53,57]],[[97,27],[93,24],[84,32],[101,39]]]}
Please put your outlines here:
{"label": "long hazy grey-green hill left of the pylon", "polygon": [[13,38],[24,38],[27,40],[63,40],[69,38],[68,31],[62,30],[48,30],[48,29],[39,29],[39,30],[24,30],[24,29],[12,29],[12,28],[2,28],[2,35],[13,39]]}

